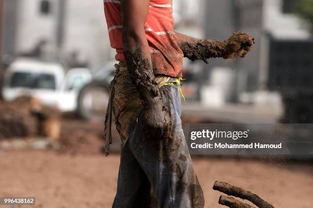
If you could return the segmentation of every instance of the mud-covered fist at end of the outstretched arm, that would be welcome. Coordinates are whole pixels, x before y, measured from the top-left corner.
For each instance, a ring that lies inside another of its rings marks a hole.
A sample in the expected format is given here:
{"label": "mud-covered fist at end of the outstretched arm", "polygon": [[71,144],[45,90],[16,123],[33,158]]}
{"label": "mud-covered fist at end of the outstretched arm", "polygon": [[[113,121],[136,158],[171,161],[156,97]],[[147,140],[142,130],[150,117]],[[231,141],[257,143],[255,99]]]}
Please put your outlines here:
{"label": "mud-covered fist at end of the outstretched arm", "polygon": [[236,58],[240,56],[243,58],[247,55],[254,44],[254,38],[243,32],[234,33],[228,40],[225,41],[226,54],[223,58]]}

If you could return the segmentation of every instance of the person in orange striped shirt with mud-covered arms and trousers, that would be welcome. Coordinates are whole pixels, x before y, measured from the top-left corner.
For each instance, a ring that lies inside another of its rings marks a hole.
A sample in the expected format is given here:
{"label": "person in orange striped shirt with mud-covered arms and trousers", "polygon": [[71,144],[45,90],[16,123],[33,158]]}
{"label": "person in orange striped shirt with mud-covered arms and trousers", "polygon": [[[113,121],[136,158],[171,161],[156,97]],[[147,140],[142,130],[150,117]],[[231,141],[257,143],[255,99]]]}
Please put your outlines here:
{"label": "person in orange striped shirt with mud-covered arms and trousers", "polygon": [[182,130],[183,57],[244,57],[253,38],[241,32],[226,41],[179,34],[172,0],[104,0],[104,11],[119,61],[105,120],[107,155],[111,119],[122,139],[113,207],[204,207]]}

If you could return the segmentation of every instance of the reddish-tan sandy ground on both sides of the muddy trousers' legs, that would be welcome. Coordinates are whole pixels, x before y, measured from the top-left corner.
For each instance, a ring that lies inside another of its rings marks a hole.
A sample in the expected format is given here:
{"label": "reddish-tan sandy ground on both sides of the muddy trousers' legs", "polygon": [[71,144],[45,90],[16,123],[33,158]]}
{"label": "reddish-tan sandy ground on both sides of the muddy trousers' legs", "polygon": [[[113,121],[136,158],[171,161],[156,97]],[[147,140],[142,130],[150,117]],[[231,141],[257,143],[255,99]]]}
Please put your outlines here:
{"label": "reddish-tan sandy ground on both sides of the muddy trousers' legs", "polygon": [[[220,193],[212,190],[215,180],[255,192],[275,207],[312,207],[313,165],[217,158],[193,161],[205,207],[221,207],[217,204]],[[118,167],[119,155],[1,152],[0,196],[36,197],[32,207],[110,207]]]}

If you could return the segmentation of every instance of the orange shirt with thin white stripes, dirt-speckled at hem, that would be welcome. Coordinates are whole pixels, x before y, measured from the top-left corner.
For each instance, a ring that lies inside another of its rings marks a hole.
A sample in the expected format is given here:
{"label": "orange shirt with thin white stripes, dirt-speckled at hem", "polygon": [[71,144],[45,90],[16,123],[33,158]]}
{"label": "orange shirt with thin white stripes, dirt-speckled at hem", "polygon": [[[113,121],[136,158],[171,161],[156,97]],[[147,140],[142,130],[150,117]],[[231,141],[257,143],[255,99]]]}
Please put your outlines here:
{"label": "orange shirt with thin white stripes, dirt-speckled at hem", "polygon": [[[117,51],[116,59],[125,61],[120,1],[104,0],[104,12],[110,44]],[[177,45],[174,27],[172,0],[150,0],[144,30],[150,47],[155,75],[181,77],[184,55]]]}

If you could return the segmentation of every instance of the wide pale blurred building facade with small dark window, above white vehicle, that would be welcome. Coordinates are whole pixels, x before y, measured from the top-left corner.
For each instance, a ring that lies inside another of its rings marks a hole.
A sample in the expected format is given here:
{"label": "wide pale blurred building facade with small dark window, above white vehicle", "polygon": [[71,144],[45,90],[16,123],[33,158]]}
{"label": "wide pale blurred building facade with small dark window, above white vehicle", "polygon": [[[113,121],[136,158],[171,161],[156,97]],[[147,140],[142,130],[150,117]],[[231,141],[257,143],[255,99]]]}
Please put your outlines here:
{"label": "wide pale blurred building facade with small dark window, above white vehicle", "polygon": [[[102,1],[49,0],[51,12],[42,14],[42,0],[6,0],[4,49],[11,55],[28,53],[48,41],[44,57],[64,61],[73,52],[96,69],[114,59]],[[60,18],[61,1],[64,16]],[[15,3],[15,4],[13,4]]]}

